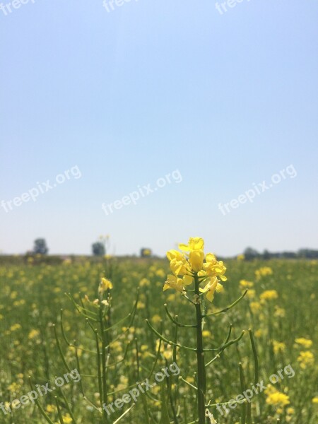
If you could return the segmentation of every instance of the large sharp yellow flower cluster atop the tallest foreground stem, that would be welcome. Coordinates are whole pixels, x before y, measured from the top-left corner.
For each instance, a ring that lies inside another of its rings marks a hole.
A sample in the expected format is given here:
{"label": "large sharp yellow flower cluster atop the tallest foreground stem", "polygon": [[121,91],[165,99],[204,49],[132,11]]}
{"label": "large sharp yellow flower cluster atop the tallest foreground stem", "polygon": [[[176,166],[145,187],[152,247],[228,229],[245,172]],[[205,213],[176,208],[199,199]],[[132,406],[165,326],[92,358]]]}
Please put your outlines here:
{"label": "large sharp yellow flower cluster atop the tallest foreground stem", "polygon": [[175,288],[182,293],[184,287],[191,285],[194,278],[199,278],[199,283],[206,283],[204,288],[199,288],[201,293],[212,302],[215,292],[223,289],[221,281],[226,281],[226,268],[223,261],[217,261],[212,253],[204,254],[204,240],[200,237],[190,237],[187,245],[179,245],[178,250],[169,250],[167,259],[173,274],[167,276],[163,290]]}

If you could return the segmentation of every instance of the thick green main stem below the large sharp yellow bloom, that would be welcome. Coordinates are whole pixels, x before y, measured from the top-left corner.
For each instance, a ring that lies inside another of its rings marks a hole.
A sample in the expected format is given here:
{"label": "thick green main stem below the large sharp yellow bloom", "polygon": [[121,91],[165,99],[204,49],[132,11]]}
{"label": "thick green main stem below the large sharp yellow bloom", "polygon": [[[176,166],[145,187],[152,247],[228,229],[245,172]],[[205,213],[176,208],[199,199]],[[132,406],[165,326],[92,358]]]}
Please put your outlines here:
{"label": "thick green main stem below the large sharp yellow bloom", "polygon": [[195,294],[195,307],[196,307],[196,363],[198,371],[198,418],[199,424],[206,422],[206,366],[204,363],[204,348],[202,338],[202,315],[201,315],[201,301],[199,292],[199,278],[194,275],[194,294]]}

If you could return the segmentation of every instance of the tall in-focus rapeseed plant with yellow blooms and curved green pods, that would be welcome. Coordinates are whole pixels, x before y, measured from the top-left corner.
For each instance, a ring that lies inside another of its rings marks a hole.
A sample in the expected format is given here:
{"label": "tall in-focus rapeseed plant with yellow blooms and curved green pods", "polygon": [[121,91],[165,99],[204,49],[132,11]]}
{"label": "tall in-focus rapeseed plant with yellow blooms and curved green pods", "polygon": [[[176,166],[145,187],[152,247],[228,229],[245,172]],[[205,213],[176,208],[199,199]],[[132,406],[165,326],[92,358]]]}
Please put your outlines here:
{"label": "tall in-focus rapeseed plant with yellow blooms and curved green pods", "polygon": [[[206,301],[213,302],[215,293],[220,293],[223,290],[222,282],[227,281],[225,276],[226,267],[223,261],[218,261],[214,254],[204,253],[204,240],[201,237],[190,237],[189,242],[186,244],[179,245],[179,251],[172,249],[167,252],[167,259],[170,261],[170,269],[172,274],[167,276],[167,280],[163,285],[163,290],[175,289],[177,293],[180,293],[184,299],[189,302],[189,304],[194,307],[194,317],[196,319],[195,324],[182,324],[179,322],[177,317],[173,317],[165,305],[165,310],[167,316],[170,318],[172,323],[175,325],[175,340],[169,341],[162,334],[158,333],[153,326],[147,321],[148,326],[151,330],[160,338],[161,341],[167,343],[173,347],[173,358],[177,358],[177,348],[193,351],[196,353],[196,384],[197,387],[192,387],[197,391],[197,413],[198,413],[198,422],[199,424],[204,424],[206,422],[206,417],[210,418],[211,423],[214,418],[211,416],[211,413],[206,409],[206,367],[211,365],[214,360],[220,357],[220,354],[225,351],[226,348],[231,346],[234,343],[240,341],[244,335],[242,334],[230,340],[230,334],[232,326],[230,326],[230,331],[228,336],[225,338],[225,341],[222,346],[219,348],[204,348],[204,333],[206,335],[206,330],[204,330],[204,325],[206,324],[206,319],[212,317],[213,315],[218,315],[224,312],[227,312],[232,307],[234,307],[237,302],[242,300],[247,293],[247,290],[242,294],[242,296],[237,299],[232,305],[225,308],[225,310],[220,310],[218,312],[207,312]],[[196,347],[184,346],[181,343],[177,342],[177,329],[182,328],[192,328],[196,331]],[[251,333],[252,337],[252,333]],[[254,346],[254,341],[253,341]],[[206,353],[216,352],[216,357],[206,363],[205,355]],[[256,357],[256,350],[253,349],[254,355]],[[242,370],[241,370],[242,372]],[[181,377],[182,378],[182,377]],[[182,379],[185,383],[187,379]],[[244,409],[245,413],[245,409]],[[250,422],[250,409],[248,411],[248,420]]]}

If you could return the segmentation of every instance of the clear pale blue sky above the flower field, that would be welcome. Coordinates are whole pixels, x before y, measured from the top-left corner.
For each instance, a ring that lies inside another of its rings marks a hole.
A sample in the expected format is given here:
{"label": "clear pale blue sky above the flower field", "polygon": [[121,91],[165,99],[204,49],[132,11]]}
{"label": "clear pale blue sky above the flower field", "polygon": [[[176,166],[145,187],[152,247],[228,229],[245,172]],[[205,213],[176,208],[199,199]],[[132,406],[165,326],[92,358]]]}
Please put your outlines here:
{"label": "clear pale blue sky above the flower field", "polygon": [[24,2],[0,10],[2,252],[318,248],[317,1]]}

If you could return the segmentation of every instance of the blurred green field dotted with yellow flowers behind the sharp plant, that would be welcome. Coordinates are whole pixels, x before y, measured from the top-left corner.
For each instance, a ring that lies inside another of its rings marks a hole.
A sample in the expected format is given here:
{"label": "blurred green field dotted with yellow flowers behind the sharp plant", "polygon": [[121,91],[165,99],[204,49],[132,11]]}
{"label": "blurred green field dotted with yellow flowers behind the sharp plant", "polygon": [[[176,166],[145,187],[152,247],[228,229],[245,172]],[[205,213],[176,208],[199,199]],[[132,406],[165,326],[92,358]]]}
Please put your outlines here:
{"label": "blurred green field dotted with yellow flowers behind the sharp plant", "polygon": [[317,424],[317,261],[232,259],[216,281],[184,249],[198,293],[176,251],[4,261],[0,423]]}

